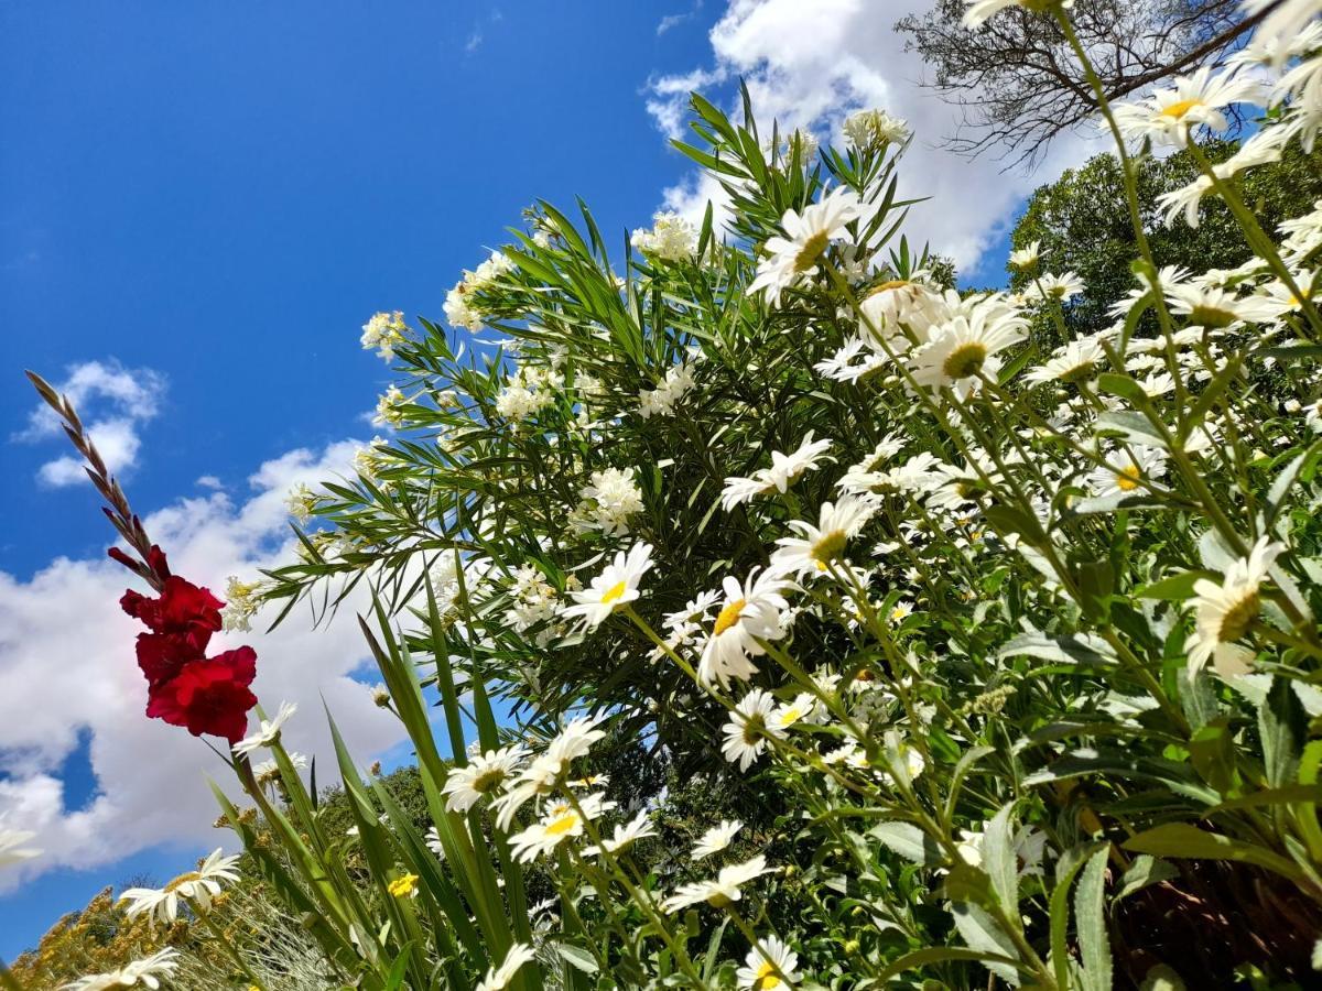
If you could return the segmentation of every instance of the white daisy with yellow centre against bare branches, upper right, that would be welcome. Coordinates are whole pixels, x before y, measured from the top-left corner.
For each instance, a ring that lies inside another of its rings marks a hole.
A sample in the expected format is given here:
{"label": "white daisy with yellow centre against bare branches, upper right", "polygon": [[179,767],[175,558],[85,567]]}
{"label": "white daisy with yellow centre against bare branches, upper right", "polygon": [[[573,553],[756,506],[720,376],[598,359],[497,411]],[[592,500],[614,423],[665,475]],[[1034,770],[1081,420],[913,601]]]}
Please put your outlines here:
{"label": "white daisy with yellow centre against bare branches, upper right", "polygon": [[1183,148],[1192,128],[1224,131],[1229,127],[1227,107],[1261,104],[1265,95],[1263,83],[1247,73],[1232,69],[1214,75],[1210,66],[1202,66],[1192,75],[1178,77],[1169,89],[1118,104],[1114,116],[1126,137],[1151,137]]}

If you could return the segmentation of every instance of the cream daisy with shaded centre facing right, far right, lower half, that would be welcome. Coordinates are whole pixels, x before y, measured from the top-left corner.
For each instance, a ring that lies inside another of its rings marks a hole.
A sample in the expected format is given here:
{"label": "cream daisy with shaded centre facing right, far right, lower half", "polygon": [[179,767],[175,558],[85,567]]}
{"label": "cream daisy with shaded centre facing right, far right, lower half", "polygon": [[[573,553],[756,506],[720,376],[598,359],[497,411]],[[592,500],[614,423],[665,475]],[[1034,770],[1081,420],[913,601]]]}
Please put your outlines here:
{"label": "cream daisy with shaded centre facing right, far right, lower half", "polygon": [[1237,643],[1261,610],[1259,591],[1285,544],[1259,538],[1247,558],[1231,564],[1220,584],[1210,579],[1194,583],[1194,633],[1185,642],[1188,674],[1198,674],[1211,661],[1218,674],[1229,678],[1248,670],[1253,651]]}

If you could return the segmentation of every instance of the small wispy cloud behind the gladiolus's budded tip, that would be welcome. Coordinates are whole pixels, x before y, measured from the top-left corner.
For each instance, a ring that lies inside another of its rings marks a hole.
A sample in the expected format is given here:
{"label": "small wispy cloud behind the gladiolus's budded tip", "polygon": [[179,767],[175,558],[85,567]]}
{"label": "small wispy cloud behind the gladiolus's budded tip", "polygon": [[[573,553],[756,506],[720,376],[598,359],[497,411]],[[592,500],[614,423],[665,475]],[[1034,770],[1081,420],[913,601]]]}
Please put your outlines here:
{"label": "small wispy cloud behind the gladiolus's budded tip", "polygon": [[[165,378],[151,369],[124,369],[115,361],[89,361],[69,367],[57,391],[85,418],[87,433],[111,472],[123,473],[137,464],[141,439],[137,428],[160,412]],[[59,419],[40,402],[28,416],[28,427],[13,436],[17,441],[38,441],[59,433]],[[83,462],[61,455],[37,469],[44,485],[62,486],[85,482]]]}

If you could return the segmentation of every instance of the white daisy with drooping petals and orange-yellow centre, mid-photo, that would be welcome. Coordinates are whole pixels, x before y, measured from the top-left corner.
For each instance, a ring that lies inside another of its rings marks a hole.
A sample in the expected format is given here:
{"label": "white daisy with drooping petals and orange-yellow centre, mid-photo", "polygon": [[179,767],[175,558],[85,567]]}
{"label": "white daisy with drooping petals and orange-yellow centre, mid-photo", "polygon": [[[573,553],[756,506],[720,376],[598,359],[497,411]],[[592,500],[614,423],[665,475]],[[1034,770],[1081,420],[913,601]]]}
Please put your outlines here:
{"label": "white daisy with drooping petals and orange-yellow centre, mid-photo", "polygon": [[731,678],[748,680],[758,673],[750,661],[765,653],[758,641],[785,636],[784,614],[789,603],[784,592],[788,584],[772,571],[756,569],[743,584],[734,577],[720,583],[724,600],[698,661],[698,680],[703,686],[728,688]]}

